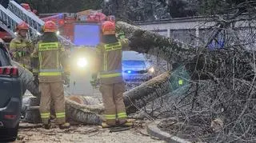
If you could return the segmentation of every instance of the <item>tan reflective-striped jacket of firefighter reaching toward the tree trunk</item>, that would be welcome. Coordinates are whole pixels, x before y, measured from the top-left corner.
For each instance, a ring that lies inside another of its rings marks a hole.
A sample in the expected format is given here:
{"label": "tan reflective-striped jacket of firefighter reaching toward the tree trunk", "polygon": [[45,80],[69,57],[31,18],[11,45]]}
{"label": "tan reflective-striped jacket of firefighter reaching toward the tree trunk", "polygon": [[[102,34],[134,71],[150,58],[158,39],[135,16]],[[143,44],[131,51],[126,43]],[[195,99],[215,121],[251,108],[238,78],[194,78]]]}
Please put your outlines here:
{"label": "tan reflective-striped jacket of firefighter reaching toward the tree trunk", "polygon": [[96,54],[98,59],[97,72],[100,74],[102,84],[113,84],[122,82],[122,50],[128,50],[128,39],[118,42],[97,46]]}

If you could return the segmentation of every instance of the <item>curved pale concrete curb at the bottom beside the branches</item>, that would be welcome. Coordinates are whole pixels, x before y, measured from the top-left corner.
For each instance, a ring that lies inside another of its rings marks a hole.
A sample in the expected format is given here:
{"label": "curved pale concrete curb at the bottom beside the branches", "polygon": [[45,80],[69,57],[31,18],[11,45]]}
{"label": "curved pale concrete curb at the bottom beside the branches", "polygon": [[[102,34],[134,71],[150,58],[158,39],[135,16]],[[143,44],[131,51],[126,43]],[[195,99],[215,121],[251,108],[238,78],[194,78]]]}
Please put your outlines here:
{"label": "curved pale concrete curb at the bottom beside the branches", "polygon": [[158,128],[158,124],[160,121],[153,121],[150,125],[147,126],[147,133],[151,136],[158,137],[160,140],[170,142],[170,143],[191,143],[190,141],[186,141],[180,137],[176,137],[171,135],[170,133],[163,132],[161,129]]}

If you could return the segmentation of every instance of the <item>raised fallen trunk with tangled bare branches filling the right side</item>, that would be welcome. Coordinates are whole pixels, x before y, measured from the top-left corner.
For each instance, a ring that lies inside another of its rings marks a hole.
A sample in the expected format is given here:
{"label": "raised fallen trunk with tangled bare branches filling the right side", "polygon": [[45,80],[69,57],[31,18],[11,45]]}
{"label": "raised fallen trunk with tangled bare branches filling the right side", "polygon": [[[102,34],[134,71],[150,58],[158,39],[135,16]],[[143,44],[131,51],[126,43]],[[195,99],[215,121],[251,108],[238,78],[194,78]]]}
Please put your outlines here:
{"label": "raised fallen trunk with tangled bare branches filling the right side", "polygon": [[[216,24],[210,27],[214,32],[205,42],[206,46],[194,49],[173,39],[118,22],[118,29],[129,34],[132,50],[176,62],[185,66],[190,73],[190,83],[193,85],[190,89],[182,90],[179,97],[168,96],[169,100],[159,98],[158,102],[148,104],[147,109],[152,108],[154,112],[151,115],[177,117],[178,122],[182,121],[180,125],[175,121],[163,121],[163,129],[169,133],[183,133],[194,141],[256,141],[256,14],[254,4],[250,3],[243,2],[234,7],[234,14],[225,17],[216,15],[213,21]],[[241,15],[244,10],[248,10],[248,15]],[[210,33],[207,31],[207,34]],[[219,36],[224,38],[223,47],[210,49],[209,44],[218,43]],[[166,101],[165,106],[159,104],[162,101]],[[195,128],[190,129],[193,125]]]}

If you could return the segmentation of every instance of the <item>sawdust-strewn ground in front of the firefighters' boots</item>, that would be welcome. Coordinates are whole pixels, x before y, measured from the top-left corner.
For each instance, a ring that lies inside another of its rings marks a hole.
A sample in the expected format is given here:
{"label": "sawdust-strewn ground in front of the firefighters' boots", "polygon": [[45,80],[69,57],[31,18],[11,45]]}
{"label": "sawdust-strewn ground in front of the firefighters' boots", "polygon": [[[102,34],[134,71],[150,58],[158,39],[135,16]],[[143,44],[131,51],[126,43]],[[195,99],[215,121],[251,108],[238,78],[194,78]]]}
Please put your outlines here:
{"label": "sawdust-strewn ground in front of the firefighters' boots", "polygon": [[146,133],[146,126],[135,127],[122,132],[110,133],[109,129],[102,129],[95,125],[78,125],[70,129],[19,129],[18,140],[15,143],[41,143],[41,142],[95,142],[95,143],[134,143],[154,142],[163,143],[158,138],[150,137]]}

